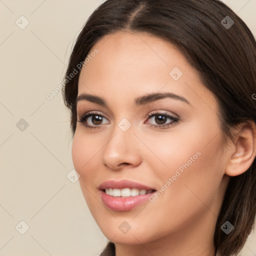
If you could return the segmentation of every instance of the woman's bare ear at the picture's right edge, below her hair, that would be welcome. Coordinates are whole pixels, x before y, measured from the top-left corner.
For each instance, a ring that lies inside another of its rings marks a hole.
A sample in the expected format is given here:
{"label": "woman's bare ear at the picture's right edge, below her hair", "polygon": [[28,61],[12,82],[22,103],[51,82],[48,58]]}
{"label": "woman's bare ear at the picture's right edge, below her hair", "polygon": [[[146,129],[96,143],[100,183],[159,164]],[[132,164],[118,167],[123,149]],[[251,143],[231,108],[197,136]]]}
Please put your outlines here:
{"label": "woman's bare ear at the picture's right edge, below her hair", "polygon": [[245,172],[256,155],[256,125],[253,121],[240,123],[225,168],[225,174],[237,176]]}

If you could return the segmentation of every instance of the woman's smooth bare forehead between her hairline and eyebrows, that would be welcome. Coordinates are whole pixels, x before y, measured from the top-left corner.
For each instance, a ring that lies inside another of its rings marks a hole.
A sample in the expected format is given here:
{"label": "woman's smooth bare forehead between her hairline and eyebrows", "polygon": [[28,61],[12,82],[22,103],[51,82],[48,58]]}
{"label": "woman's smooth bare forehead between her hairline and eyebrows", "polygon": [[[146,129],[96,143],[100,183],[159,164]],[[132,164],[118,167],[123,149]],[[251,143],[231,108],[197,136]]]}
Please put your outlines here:
{"label": "woman's smooth bare forehead between her hairline and eyebrows", "polygon": [[[198,101],[200,94],[204,100],[213,97],[174,45],[147,33],[106,35],[94,44],[88,59],[80,72],[78,95],[86,92],[120,103],[133,100],[135,94],[159,90],[190,98],[190,102]],[[173,79],[175,73],[180,78]]]}

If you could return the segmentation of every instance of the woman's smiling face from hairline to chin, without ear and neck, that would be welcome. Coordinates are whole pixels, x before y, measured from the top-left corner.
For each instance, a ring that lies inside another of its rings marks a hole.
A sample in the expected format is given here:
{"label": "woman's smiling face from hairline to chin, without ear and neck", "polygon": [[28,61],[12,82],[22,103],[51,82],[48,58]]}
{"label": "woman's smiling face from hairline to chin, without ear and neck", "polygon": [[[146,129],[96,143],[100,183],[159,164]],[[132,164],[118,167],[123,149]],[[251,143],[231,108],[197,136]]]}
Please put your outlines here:
{"label": "woman's smiling face from hairline to chin, without ear and neck", "polygon": [[[177,48],[146,33],[107,35],[89,56],[78,82],[72,159],[104,235],[138,244],[186,228],[212,231],[225,165],[213,94]],[[109,180],[117,182],[101,186]],[[109,187],[110,195],[102,190]],[[118,188],[133,189],[120,196]]]}

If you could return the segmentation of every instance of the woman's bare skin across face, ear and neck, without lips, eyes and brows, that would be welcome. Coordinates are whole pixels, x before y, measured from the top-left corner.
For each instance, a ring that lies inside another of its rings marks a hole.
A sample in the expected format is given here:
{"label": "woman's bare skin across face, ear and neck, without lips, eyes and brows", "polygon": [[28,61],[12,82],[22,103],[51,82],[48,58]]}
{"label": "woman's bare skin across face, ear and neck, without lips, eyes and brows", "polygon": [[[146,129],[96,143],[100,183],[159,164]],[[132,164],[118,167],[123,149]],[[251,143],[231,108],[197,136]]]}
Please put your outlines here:
{"label": "woman's bare skin across face, ear and neck, without lips, eyes and brows", "polygon": [[[103,119],[87,118],[96,129],[77,121],[72,144],[73,164],[95,221],[115,243],[117,256],[215,255],[214,228],[229,176],[244,172],[255,157],[251,126],[239,127],[246,143],[237,136],[222,151],[216,99],[173,45],[126,31],[106,35],[90,52],[95,48],[98,53],[81,69],[78,95],[100,96],[108,107],[78,101],[77,118],[97,111]],[[169,75],[173,67],[183,73],[176,81]],[[190,104],[163,98],[133,105],[134,98],[159,91]],[[166,128],[150,126],[159,125],[157,116],[147,118],[156,111],[179,120]],[[125,132],[118,127],[123,118],[131,124]],[[98,190],[103,181],[129,179],[158,190],[197,151],[197,159],[154,202],[129,211],[104,206]],[[131,227],[125,234],[118,228],[123,221]]]}

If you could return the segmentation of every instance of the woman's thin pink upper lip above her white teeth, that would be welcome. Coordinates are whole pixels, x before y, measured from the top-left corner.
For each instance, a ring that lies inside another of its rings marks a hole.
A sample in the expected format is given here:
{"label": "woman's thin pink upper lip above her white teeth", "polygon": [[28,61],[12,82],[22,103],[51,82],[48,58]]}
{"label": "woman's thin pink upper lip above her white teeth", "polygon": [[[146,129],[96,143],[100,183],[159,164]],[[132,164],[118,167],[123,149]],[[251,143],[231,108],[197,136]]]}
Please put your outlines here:
{"label": "woman's thin pink upper lip above her white teeth", "polygon": [[118,188],[118,189],[122,189],[125,187],[129,187],[129,188],[138,188],[138,189],[145,189],[145,190],[155,190],[153,187],[149,187],[146,185],[143,185],[141,183],[132,181],[132,180],[127,180],[127,179],[122,179],[122,180],[106,180],[104,182],[102,182],[98,189],[103,190],[105,188]]}

